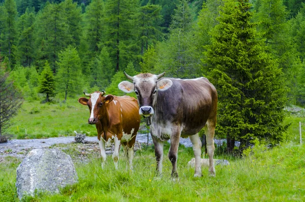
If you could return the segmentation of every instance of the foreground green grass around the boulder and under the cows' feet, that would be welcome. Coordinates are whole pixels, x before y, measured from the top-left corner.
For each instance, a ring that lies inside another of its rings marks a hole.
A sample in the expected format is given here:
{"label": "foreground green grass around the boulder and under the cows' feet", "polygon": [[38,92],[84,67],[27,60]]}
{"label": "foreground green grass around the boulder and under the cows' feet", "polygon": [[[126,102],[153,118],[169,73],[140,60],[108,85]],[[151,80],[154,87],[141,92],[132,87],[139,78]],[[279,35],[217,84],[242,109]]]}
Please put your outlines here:
{"label": "foreground green grass around the boulder and under the cows' feet", "polygon": [[[76,164],[79,183],[59,194],[39,194],[25,201],[304,201],[305,146],[286,145],[267,150],[257,146],[250,155],[230,159],[230,166],[216,166],[216,177],[194,178],[187,162],[191,148],[181,147],[178,156],[179,181],[170,180],[171,163],[165,149],[164,175],[155,178],[156,162],[151,147],[137,151],[134,172],[125,170],[121,157],[119,169],[108,156],[106,168],[99,159]],[[120,153],[121,155],[122,153]],[[220,156],[216,158],[222,158]],[[10,159],[0,164],[0,201],[16,201],[15,170],[18,163]]]}

